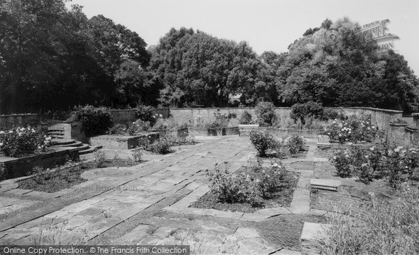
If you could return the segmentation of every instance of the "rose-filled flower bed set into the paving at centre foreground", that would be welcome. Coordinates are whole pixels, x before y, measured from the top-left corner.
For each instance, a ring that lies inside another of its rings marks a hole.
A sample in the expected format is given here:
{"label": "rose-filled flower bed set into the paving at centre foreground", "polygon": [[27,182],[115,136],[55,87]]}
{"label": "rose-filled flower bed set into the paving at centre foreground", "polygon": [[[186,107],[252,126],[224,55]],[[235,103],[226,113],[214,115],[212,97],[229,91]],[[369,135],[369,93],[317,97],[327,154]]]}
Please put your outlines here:
{"label": "rose-filled flower bed set into the paving at centre foreground", "polygon": [[262,167],[261,162],[249,162],[231,173],[227,164],[218,164],[207,171],[212,189],[191,207],[216,210],[255,212],[260,208],[289,207],[298,182],[298,173],[286,171],[281,162]]}

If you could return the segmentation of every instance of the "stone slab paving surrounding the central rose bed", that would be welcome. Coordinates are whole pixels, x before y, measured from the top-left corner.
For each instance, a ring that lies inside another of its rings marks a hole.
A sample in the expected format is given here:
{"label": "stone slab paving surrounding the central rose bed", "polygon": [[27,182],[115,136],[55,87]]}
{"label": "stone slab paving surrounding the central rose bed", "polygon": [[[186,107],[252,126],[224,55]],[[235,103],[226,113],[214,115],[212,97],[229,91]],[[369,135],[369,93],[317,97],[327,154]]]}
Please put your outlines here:
{"label": "stone slab paving surrounding the central rose bed", "polygon": [[186,244],[193,254],[294,254],[304,222],[321,222],[311,215],[308,188],[316,139],[308,139],[305,158],[284,160],[300,172],[291,207],[253,213],[189,208],[209,190],[205,168],[228,161],[237,171],[256,154],[249,137],[199,141],[168,155],[145,155],[148,161],[135,167],[86,171],[86,182],[53,194],[3,181],[0,243],[33,245],[42,230],[41,242],[55,245]]}

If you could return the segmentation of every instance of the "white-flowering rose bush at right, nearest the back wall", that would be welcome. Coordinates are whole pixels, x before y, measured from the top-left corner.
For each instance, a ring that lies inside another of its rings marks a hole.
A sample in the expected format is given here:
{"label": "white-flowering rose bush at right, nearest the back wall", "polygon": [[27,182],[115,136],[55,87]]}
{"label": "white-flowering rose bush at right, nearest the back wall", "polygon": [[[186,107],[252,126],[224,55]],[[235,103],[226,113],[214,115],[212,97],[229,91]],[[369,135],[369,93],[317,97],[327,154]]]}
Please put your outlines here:
{"label": "white-flowering rose bush at right, nearest the back wall", "polygon": [[377,127],[372,125],[369,114],[360,116],[351,115],[348,119],[335,119],[332,125],[326,127],[325,134],[330,139],[345,142],[358,143],[360,141],[374,141],[377,134]]}

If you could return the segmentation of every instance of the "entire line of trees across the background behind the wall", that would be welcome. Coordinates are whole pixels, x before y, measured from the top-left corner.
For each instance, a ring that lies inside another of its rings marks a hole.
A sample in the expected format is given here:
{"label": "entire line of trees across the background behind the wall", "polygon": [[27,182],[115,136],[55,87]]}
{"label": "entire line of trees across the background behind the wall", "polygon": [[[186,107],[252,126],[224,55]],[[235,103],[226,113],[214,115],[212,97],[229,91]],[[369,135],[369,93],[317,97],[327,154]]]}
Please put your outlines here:
{"label": "entire line of trees across the background behind the wall", "polygon": [[[146,49],[137,33],[62,0],[0,1],[0,114],[135,107],[291,106],[418,110],[418,79],[403,56],[377,54],[358,24],[326,19],[288,47],[170,29]],[[150,28],[152,29],[152,28]]]}

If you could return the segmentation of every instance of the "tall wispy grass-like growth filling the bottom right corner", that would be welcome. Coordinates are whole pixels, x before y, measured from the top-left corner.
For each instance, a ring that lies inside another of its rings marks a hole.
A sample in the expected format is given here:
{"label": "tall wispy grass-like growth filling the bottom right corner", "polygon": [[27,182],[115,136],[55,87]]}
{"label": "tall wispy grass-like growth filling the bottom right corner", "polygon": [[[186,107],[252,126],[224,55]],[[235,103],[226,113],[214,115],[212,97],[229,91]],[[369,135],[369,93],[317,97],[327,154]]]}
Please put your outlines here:
{"label": "tall wispy grass-like growth filling the bottom right corner", "polygon": [[316,246],[324,254],[418,254],[419,190],[402,185],[392,201],[337,206]]}

